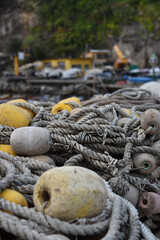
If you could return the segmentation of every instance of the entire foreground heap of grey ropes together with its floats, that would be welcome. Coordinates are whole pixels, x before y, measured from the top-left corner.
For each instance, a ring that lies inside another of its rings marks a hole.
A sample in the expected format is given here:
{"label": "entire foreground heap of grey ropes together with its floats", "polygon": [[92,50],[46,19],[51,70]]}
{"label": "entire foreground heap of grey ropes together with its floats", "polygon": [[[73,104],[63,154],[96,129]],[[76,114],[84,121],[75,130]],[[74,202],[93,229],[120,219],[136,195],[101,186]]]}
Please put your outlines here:
{"label": "entire foreground heap of grey ropes together with its floats", "polygon": [[0,105],[0,235],[160,239],[160,98]]}

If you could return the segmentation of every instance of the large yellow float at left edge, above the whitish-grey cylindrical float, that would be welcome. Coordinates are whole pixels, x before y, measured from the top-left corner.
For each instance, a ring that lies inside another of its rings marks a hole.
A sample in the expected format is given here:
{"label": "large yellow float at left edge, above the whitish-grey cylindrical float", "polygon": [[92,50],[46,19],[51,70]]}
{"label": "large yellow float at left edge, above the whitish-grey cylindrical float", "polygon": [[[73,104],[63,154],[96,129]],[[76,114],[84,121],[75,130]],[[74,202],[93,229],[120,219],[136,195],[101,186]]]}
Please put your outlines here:
{"label": "large yellow float at left edge, above the whitish-grey cylindrical float", "polygon": [[21,107],[9,103],[0,104],[0,124],[10,127],[26,127],[31,121],[31,115]]}

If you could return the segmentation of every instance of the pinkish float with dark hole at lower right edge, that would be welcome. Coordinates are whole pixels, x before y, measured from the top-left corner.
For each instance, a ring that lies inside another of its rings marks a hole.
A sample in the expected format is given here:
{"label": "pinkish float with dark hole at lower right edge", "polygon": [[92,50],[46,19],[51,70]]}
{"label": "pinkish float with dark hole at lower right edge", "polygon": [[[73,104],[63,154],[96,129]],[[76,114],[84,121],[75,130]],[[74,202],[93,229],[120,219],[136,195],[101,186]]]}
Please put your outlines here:
{"label": "pinkish float with dark hole at lower right edge", "polygon": [[160,195],[146,192],[139,200],[139,209],[145,215],[160,213]]}

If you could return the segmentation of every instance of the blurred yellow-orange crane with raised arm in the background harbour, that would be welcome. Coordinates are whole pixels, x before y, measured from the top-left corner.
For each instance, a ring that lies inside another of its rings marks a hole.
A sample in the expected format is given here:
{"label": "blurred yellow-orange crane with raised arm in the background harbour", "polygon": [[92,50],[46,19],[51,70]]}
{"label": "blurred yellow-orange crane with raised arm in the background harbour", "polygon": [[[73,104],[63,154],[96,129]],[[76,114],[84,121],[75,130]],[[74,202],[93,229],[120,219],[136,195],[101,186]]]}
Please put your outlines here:
{"label": "blurred yellow-orange crane with raised arm in the background harbour", "polygon": [[114,39],[112,38],[111,35],[109,35],[109,39],[111,40],[112,46],[114,51],[116,52],[118,58],[114,62],[114,68],[115,69],[123,69],[125,66],[129,67],[130,65],[130,59],[124,57],[123,53],[119,49],[118,45],[116,45]]}

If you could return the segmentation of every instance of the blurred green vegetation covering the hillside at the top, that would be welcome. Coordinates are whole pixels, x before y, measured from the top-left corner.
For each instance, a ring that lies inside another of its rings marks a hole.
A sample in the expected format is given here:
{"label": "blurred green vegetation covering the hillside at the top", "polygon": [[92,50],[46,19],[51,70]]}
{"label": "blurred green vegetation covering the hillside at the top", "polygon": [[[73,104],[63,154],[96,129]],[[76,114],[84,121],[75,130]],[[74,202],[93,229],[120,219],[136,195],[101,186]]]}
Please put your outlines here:
{"label": "blurred green vegetation covering the hillside at the top", "polygon": [[[0,7],[8,1],[1,0]],[[135,21],[160,37],[159,0],[32,0],[23,5],[39,19],[23,42],[33,59],[76,57],[86,45],[110,48],[108,34],[116,39],[123,25]]]}

